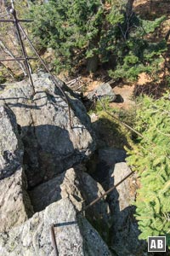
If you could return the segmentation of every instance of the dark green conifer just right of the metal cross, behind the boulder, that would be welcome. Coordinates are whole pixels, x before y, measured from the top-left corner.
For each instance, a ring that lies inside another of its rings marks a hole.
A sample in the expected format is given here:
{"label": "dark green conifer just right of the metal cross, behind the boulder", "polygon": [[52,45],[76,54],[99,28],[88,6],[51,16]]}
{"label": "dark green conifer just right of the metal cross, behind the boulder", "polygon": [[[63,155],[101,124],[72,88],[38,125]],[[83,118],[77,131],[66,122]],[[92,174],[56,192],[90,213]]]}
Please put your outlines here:
{"label": "dark green conifer just right of the metal cross, behind the boulder", "polygon": [[[49,1],[30,9],[31,32],[40,47],[55,49],[55,65],[72,69],[88,60],[89,71],[98,65],[99,30],[103,5],[99,0]],[[93,61],[94,67],[90,64]]]}

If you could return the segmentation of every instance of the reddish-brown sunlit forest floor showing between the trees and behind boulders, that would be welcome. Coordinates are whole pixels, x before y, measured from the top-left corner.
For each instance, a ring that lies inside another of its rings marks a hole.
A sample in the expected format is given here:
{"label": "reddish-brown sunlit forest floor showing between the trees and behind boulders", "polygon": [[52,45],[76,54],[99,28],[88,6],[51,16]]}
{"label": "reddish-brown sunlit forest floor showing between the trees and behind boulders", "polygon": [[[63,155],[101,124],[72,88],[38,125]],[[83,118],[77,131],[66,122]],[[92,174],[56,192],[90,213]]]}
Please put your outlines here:
{"label": "reddish-brown sunlit forest floor showing between the trees and behind boulders", "polygon": [[[160,38],[165,38],[167,32],[170,29],[169,0],[161,0],[161,1],[160,0],[135,0],[134,11],[136,12],[137,15],[140,15],[141,17],[144,17],[144,18],[147,17],[147,19],[150,19],[150,20],[154,20],[155,18],[158,18],[161,15],[166,15],[167,17],[166,21],[162,23],[161,28],[156,30],[156,32],[154,33],[153,39],[157,41],[157,40],[160,40]],[[8,44],[11,46],[12,40],[9,40]],[[170,49],[170,37],[168,40],[168,45]],[[42,55],[42,57],[44,57],[46,61],[50,62],[50,57],[52,57],[52,55],[53,53],[46,52],[44,56]],[[169,61],[169,55],[166,56],[166,60],[167,62]],[[7,66],[9,70],[12,70],[14,65],[17,67],[16,63],[8,62]],[[170,67],[168,67],[168,69],[170,70]],[[169,73],[169,70],[167,71],[168,73]],[[20,71],[19,73],[17,73],[17,75],[20,76]],[[62,74],[59,75],[59,78],[65,81],[65,77],[63,77]],[[95,74],[95,76],[91,76],[86,72],[84,74],[83,73],[81,74],[81,84],[82,84],[81,90],[85,95],[87,95],[89,91],[94,90],[96,87],[98,87],[99,84],[104,84],[105,82],[108,82],[108,75],[105,72],[105,70],[101,68]],[[111,103],[111,108],[122,108],[122,109],[132,108],[134,105],[134,99],[136,95],[139,95],[142,92],[146,92],[149,95],[156,94],[156,93],[161,94],[162,92],[161,90],[163,90],[163,86],[164,84],[162,83],[161,84],[153,83],[144,73],[140,74],[139,80],[135,83],[127,84],[127,83],[120,82],[120,83],[113,84],[112,87],[114,92],[116,93],[116,95],[122,96],[123,102]]]}

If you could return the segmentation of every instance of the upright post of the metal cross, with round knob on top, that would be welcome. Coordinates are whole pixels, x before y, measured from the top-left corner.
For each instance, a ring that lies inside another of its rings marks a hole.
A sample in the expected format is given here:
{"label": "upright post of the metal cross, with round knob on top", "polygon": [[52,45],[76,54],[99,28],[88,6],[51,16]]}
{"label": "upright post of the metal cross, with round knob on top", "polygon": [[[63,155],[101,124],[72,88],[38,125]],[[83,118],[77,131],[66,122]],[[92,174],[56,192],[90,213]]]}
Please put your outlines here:
{"label": "upright post of the metal cross, with round knob on top", "polygon": [[10,13],[11,13],[11,15],[14,16],[14,25],[16,26],[16,29],[17,29],[17,33],[18,33],[18,37],[19,37],[19,41],[20,41],[20,46],[21,46],[21,49],[22,49],[22,54],[25,58],[25,65],[26,65],[27,73],[28,73],[28,76],[29,76],[29,79],[30,79],[30,82],[31,82],[31,87],[32,87],[33,93],[35,95],[36,92],[35,92],[35,89],[34,89],[34,84],[33,84],[32,78],[31,78],[30,67],[29,67],[29,64],[28,64],[28,61],[27,61],[28,60],[28,55],[26,53],[26,49],[25,49],[25,46],[23,44],[23,41],[22,41],[22,38],[21,38],[21,35],[20,35],[19,20],[17,19],[15,9],[10,9]]}

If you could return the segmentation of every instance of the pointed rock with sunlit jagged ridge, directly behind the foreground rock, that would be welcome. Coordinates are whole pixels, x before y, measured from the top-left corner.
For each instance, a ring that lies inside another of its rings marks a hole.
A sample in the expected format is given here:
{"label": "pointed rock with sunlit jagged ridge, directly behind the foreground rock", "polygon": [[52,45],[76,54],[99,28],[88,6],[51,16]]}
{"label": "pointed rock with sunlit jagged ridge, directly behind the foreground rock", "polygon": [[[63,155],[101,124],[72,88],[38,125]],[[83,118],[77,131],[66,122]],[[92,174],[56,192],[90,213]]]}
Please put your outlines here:
{"label": "pointed rock with sunlit jagged ridge, directly behind the foreground rock", "polygon": [[[81,168],[73,168],[59,174],[57,177],[42,183],[30,191],[31,203],[35,212],[42,211],[54,201],[60,198],[70,198],[77,210],[94,201],[105,190]],[[111,225],[111,212],[105,199],[99,201],[86,211],[89,222],[95,226],[99,233],[107,237]]]}

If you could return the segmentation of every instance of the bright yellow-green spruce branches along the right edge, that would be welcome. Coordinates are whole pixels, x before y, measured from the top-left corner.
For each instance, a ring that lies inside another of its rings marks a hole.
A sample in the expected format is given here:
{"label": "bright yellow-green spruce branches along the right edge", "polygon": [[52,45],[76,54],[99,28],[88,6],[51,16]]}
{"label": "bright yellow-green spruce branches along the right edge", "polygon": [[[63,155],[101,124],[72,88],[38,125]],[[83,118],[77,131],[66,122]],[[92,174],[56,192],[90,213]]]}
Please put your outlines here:
{"label": "bright yellow-green spruce branches along the right edge", "polygon": [[135,128],[142,133],[128,164],[139,172],[140,188],[135,205],[140,239],[167,236],[170,247],[170,104],[169,94],[158,100],[144,96],[139,104]]}

